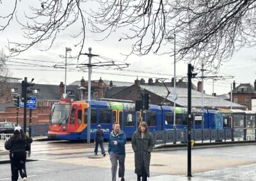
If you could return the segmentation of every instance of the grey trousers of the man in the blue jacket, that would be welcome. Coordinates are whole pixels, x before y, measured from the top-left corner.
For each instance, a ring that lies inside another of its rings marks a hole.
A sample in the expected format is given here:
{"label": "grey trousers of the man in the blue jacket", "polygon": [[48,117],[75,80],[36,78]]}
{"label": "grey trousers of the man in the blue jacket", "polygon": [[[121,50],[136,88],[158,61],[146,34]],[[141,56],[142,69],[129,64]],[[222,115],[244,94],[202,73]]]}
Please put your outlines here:
{"label": "grey trousers of the man in the blue jacket", "polygon": [[[119,163],[118,177],[124,177],[124,161],[125,155],[116,155],[112,152],[109,152],[109,158],[111,161],[111,173],[112,173],[112,181],[116,181],[116,171],[117,164]],[[118,163],[117,163],[118,161]]]}

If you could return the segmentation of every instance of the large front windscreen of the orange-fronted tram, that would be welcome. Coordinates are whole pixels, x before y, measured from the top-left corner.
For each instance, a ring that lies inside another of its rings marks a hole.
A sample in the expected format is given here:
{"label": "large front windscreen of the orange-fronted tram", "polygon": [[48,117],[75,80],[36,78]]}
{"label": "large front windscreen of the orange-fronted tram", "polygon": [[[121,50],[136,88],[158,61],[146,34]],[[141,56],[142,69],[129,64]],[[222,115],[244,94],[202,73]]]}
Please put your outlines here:
{"label": "large front windscreen of the orange-fronted tram", "polygon": [[67,124],[71,104],[53,105],[51,112],[52,124]]}

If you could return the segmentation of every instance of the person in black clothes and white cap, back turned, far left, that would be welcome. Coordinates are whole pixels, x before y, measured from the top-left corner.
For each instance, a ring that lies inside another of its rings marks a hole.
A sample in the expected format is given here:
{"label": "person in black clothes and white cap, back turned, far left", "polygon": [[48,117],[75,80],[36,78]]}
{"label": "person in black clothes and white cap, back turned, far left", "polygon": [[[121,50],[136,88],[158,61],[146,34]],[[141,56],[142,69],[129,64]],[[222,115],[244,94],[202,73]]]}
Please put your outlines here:
{"label": "person in black clothes and white cap, back turned, far left", "polygon": [[20,177],[27,180],[26,173],[26,147],[32,143],[32,138],[24,134],[20,126],[15,127],[13,136],[4,143],[4,148],[10,150],[10,161],[12,170],[12,181],[17,181]]}

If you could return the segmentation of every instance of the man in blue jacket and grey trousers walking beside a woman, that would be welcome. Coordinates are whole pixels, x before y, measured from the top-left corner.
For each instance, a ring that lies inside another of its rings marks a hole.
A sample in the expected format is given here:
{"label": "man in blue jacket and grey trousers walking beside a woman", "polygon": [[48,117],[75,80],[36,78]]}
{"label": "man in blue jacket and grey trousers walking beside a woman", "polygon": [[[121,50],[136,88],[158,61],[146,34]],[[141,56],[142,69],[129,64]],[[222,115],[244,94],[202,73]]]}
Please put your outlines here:
{"label": "man in blue jacket and grey trousers walking beside a woman", "polygon": [[[112,181],[116,181],[116,171],[119,163],[118,177],[121,181],[124,180],[124,162],[125,162],[125,143],[126,135],[124,131],[120,130],[118,122],[113,123],[113,131],[109,134],[108,152],[111,161]],[[118,163],[117,163],[118,161]]]}

